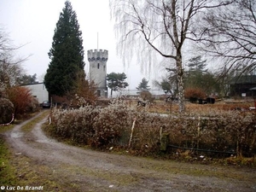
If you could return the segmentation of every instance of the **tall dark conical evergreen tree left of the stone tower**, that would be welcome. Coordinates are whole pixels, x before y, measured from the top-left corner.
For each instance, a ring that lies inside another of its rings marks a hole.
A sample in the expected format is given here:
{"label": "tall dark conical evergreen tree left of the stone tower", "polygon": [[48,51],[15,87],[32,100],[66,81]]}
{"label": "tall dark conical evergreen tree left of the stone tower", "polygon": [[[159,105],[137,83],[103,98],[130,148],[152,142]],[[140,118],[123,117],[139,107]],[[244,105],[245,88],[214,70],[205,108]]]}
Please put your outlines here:
{"label": "tall dark conical evergreen tree left of the stone tower", "polygon": [[56,24],[49,59],[51,61],[44,77],[45,87],[50,94],[68,96],[76,89],[81,71],[84,74],[82,32],[69,1],[65,2]]}

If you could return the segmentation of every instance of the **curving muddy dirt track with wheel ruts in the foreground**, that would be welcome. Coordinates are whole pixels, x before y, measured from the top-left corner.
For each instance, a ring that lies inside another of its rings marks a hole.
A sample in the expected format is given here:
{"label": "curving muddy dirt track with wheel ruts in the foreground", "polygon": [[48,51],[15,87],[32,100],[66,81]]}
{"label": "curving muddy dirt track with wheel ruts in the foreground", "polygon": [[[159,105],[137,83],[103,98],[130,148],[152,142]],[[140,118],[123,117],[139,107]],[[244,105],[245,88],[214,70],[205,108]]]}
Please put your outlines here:
{"label": "curving muddy dirt track with wheel ruts in the foreground", "polygon": [[44,167],[38,171],[41,177],[65,186],[44,191],[256,191],[255,169],[96,152],[46,137],[41,130],[45,119],[32,131],[21,131],[28,122],[5,136],[16,158],[25,156],[35,169]]}

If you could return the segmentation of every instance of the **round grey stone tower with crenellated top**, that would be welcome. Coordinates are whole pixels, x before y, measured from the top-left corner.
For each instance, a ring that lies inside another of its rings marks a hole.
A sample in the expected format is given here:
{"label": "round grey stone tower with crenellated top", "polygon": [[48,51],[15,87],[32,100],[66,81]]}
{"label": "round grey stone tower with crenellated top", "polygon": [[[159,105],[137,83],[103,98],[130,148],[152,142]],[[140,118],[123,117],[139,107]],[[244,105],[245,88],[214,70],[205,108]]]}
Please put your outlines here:
{"label": "round grey stone tower with crenellated top", "polygon": [[90,49],[87,51],[90,65],[90,82],[94,81],[97,86],[97,96],[108,97],[107,88],[107,61],[108,50]]}

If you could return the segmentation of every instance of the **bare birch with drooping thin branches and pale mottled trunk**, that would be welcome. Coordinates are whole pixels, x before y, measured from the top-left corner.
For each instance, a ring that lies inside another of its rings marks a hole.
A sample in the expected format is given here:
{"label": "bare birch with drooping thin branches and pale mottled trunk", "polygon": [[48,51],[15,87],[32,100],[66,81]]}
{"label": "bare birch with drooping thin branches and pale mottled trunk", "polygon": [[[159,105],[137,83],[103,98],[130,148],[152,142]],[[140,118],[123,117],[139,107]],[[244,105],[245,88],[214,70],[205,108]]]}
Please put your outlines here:
{"label": "bare birch with drooping thin branches and pale mottled trunk", "polygon": [[[119,53],[138,53],[152,62],[152,53],[175,61],[179,111],[184,112],[183,51],[186,39],[195,40],[196,18],[209,8],[225,5],[212,0],[110,0],[119,38]],[[132,46],[131,46],[132,45]],[[128,52],[129,53],[129,52]]]}

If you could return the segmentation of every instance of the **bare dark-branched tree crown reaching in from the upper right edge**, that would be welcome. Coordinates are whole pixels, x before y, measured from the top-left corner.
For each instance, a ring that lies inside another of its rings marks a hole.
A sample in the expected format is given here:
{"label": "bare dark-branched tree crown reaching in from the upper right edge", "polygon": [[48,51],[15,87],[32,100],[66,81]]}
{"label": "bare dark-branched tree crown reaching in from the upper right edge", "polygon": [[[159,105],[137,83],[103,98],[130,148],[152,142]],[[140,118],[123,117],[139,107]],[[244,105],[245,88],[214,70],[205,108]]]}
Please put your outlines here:
{"label": "bare dark-branched tree crown reaching in from the upper right edge", "polygon": [[201,22],[201,49],[222,60],[223,73],[250,73],[256,67],[256,1],[233,0],[210,10]]}

